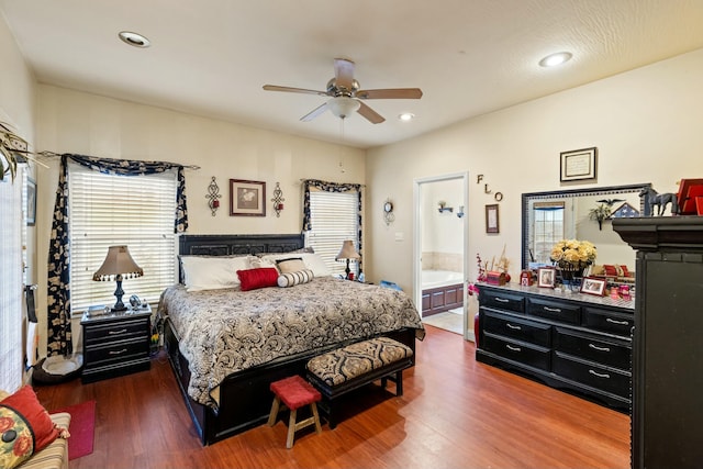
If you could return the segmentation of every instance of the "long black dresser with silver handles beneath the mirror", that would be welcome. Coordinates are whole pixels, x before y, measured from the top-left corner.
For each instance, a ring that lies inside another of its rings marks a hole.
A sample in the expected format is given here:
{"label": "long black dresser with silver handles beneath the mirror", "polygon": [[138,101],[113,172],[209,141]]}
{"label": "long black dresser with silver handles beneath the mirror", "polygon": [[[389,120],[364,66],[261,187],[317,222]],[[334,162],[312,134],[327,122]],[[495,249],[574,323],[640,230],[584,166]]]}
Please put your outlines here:
{"label": "long black dresser with silver handles beneath the mirror", "polygon": [[478,361],[629,412],[633,300],[478,287]]}

